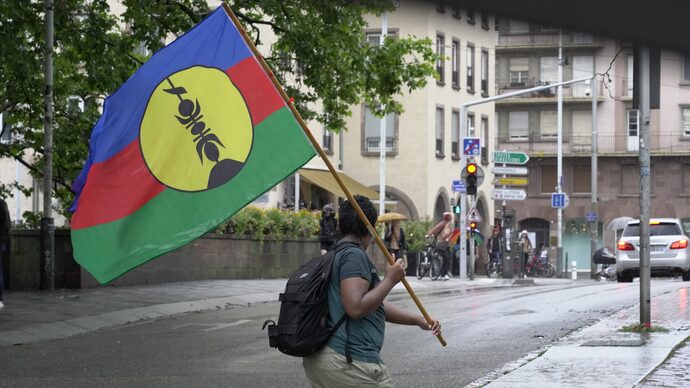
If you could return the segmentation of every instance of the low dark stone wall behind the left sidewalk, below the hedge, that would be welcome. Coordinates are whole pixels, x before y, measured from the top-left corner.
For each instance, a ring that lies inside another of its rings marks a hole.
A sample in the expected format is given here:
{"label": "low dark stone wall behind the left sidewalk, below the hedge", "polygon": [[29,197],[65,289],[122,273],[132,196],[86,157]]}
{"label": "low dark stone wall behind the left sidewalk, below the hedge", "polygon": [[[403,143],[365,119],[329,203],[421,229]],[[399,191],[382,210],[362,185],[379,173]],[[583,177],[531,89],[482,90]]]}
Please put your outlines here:
{"label": "low dark stone wall behind the left sidewalk, below the hedge", "polygon": [[[87,288],[98,282],[72,256],[68,230],[55,231],[56,288]],[[40,232],[13,230],[3,258],[5,286],[41,287]],[[210,279],[287,278],[300,264],[319,254],[316,239],[259,241],[250,237],[208,234],[135,268],[110,285],[158,284]]]}

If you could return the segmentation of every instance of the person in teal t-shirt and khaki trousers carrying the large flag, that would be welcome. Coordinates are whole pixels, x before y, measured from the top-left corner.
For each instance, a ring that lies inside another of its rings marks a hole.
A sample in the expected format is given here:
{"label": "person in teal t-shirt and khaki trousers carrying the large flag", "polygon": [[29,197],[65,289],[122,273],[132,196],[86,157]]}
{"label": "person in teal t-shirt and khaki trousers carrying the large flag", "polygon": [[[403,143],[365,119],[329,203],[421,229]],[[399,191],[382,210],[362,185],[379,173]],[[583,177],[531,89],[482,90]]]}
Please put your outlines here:
{"label": "person in teal t-shirt and khaki trousers carrying the large flag", "polygon": [[[354,199],[373,225],[377,219],[373,203],[360,195]],[[380,355],[385,322],[417,325],[434,335],[441,332],[441,325],[437,320],[429,325],[424,316],[384,300],[405,277],[402,260],[389,264],[381,280],[365,252],[373,237],[349,201],[340,206],[338,220],[343,236],[339,243],[350,244],[338,249],[334,258],[328,285],[328,322],[334,325],[344,314],[348,318],[323,349],[303,358],[304,371],[312,387],[392,387]]]}

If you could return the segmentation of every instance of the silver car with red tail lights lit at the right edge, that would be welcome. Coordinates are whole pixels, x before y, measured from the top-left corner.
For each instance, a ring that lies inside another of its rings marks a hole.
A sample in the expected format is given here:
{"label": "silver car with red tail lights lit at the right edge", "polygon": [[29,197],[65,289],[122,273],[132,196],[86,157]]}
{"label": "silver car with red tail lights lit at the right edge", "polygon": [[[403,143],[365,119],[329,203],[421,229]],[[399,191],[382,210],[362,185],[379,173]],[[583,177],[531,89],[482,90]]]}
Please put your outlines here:
{"label": "silver car with red tail lights lit at the right edge", "polygon": [[[617,280],[632,282],[640,276],[640,220],[628,222],[617,247]],[[649,267],[652,276],[682,276],[690,281],[688,236],[679,219],[650,219]]]}

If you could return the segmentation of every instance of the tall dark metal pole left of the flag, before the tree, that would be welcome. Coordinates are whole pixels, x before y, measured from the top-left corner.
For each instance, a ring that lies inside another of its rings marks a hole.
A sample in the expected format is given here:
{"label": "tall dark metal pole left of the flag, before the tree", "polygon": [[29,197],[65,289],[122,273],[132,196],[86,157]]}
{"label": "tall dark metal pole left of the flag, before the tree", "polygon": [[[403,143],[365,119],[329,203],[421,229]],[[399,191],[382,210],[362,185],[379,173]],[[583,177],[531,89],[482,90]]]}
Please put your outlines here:
{"label": "tall dark metal pole left of the flag, before the tree", "polygon": [[53,0],[45,0],[45,115],[43,118],[43,218],[41,242],[45,273],[50,291],[55,290],[55,225],[52,214],[53,199]]}

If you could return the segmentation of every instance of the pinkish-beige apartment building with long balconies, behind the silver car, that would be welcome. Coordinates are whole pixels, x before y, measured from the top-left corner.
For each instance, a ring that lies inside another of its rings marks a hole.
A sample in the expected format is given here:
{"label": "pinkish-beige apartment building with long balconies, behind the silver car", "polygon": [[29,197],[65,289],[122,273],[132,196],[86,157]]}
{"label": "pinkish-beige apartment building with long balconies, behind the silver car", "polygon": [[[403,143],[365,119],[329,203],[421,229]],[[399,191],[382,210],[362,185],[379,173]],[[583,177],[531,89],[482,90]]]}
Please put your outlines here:
{"label": "pinkish-beige apartment building with long balconies, behind the silver car", "polygon": [[[559,41],[563,60],[558,60]],[[690,57],[661,53],[661,107],[652,111],[651,215],[689,217],[690,209]],[[570,205],[563,211],[564,259],[590,270],[588,219],[596,218],[598,245],[615,247],[621,220],[640,213],[640,114],[633,109],[633,47],[626,42],[576,31],[560,31],[517,20],[499,20],[496,45],[496,93],[563,80],[596,78],[598,212],[592,214],[592,83],[563,87],[563,191]],[[557,210],[551,193],[557,185],[556,88],[499,100],[498,149],[530,156],[528,198],[509,201],[518,230],[534,233],[537,245],[557,246]],[[588,214],[590,213],[590,214]]]}

